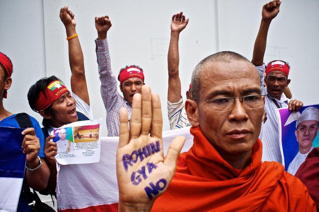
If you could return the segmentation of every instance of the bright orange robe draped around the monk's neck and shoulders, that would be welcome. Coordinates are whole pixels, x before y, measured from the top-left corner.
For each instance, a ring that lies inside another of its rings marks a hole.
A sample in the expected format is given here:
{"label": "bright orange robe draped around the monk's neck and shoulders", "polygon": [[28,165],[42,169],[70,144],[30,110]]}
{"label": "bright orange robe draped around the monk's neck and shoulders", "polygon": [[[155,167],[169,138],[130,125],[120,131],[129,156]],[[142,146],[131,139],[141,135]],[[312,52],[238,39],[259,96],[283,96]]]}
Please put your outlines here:
{"label": "bright orange robe draped around the monk's neck and shoulders", "polygon": [[180,154],[175,176],[152,211],[316,211],[301,181],[277,162],[261,161],[258,139],[246,168],[234,169],[203,135]]}

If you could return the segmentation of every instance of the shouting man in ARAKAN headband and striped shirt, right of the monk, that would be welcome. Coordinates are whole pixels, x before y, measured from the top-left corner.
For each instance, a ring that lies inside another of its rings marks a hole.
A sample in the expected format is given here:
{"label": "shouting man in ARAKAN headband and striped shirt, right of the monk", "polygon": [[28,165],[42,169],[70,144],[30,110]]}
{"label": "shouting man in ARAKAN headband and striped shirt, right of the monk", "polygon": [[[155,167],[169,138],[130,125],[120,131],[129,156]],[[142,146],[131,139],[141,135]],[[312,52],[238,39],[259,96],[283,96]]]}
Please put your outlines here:
{"label": "shouting man in ARAKAN headband and striped shirt, right of the monk", "polygon": [[[280,0],[271,1],[263,6],[262,20],[256,37],[253,58],[251,60],[259,72],[265,97],[265,111],[267,112],[267,121],[262,125],[259,138],[263,142],[262,161],[277,161],[282,163],[279,148],[279,128],[275,110],[278,108],[289,107],[291,111],[298,111],[303,105],[301,101],[290,100],[286,97],[285,91],[288,89],[290,79],[288,74],[290,66],[282,60],[273,60],[267,64],[263,63],[263,57],[266,50],[267,34],[271,23],[279,13]],[[266,73],[266,76],[264,76]],[[291,95],[290,92],[288,92]],[[291,98],[291,96],[289,96]]]}

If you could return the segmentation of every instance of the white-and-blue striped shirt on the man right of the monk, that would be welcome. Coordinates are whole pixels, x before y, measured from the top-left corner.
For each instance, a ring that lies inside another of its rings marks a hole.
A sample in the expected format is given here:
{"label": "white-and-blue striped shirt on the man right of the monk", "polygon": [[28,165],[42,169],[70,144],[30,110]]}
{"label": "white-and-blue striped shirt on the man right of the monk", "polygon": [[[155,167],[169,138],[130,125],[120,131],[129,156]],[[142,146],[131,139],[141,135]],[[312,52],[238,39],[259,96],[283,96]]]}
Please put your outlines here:
{"label": "white-and-blue striped shirt on the man right of the monk", "polygon": [[[261,77],[261,82],[264,80],[263,73],[265,72],[265,65],[256,66],[259,75]],[[263,85],[263,83],[262,83]],[[279,127],[278,119],[276,115],[277,106],[272,101],[274,99],[280,108],[288,107],[289,99],[283,93],[281,95],[280,101],[276,98],[268,95],[267,87],[262,87],[262,94],[265,96],[265,111],[267,112],[267,121],[262,125],[262,130],[259,138],[263,143],[263,155],[262,161],[277,161],[282,163],[280,147],[279,147]]]}

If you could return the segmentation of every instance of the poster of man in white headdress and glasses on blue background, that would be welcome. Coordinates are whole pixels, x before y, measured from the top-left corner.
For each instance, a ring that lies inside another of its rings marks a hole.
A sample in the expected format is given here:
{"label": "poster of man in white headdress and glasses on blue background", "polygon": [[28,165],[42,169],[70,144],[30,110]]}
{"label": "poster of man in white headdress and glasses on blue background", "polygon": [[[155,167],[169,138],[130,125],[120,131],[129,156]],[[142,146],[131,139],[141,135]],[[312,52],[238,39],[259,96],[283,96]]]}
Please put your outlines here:
{"label": "poster of man in white headdress and glasses on blue background", "polygon": [[308,153],[319,147],[319,104],[303,106],[298,112],[280,108],[276,114],[283,165],[294,175]]}

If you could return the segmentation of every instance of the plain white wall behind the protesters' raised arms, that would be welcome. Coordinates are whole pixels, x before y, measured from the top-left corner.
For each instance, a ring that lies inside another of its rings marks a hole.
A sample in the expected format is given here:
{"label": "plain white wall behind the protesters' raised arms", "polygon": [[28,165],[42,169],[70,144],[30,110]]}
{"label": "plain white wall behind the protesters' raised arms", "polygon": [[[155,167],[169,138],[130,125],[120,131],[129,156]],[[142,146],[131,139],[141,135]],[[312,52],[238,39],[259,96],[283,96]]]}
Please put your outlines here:
{"label": "plain white wall behind the protesters' raised arms", "polygon": [[[13,85],[4,106],[11,112],[33,112],[27,102],[29,87],[44,76],[55,74],[70,85],[66,33],[59,19],[60,8],[69,5],[75,14],[77,32],[84,53],[85,71],[94,118],[103,117],[95,43],[94,17],[108,15],[112,70],[117,76],[125,65],[137,64],[145,71],[145,83],[159,93],[163,130],[167,119],[167,50],[170,21],[183,11],[189,18],[180,36],[180,77],[182,94],[188,90],[190,75],[204,57],[219,50],[232,50],[251,59],[265,1],[5,1],[0,0],[0,51],[11,57]],[[271,23],[265,62],[287,60],[292,71],[293,98],[305,104],[318,103],[318,21],[319,1],[283,1],[278,17]],[[104,122],[105,123],[105,122]],[[106,135],[104,125],[103,136]]]}

